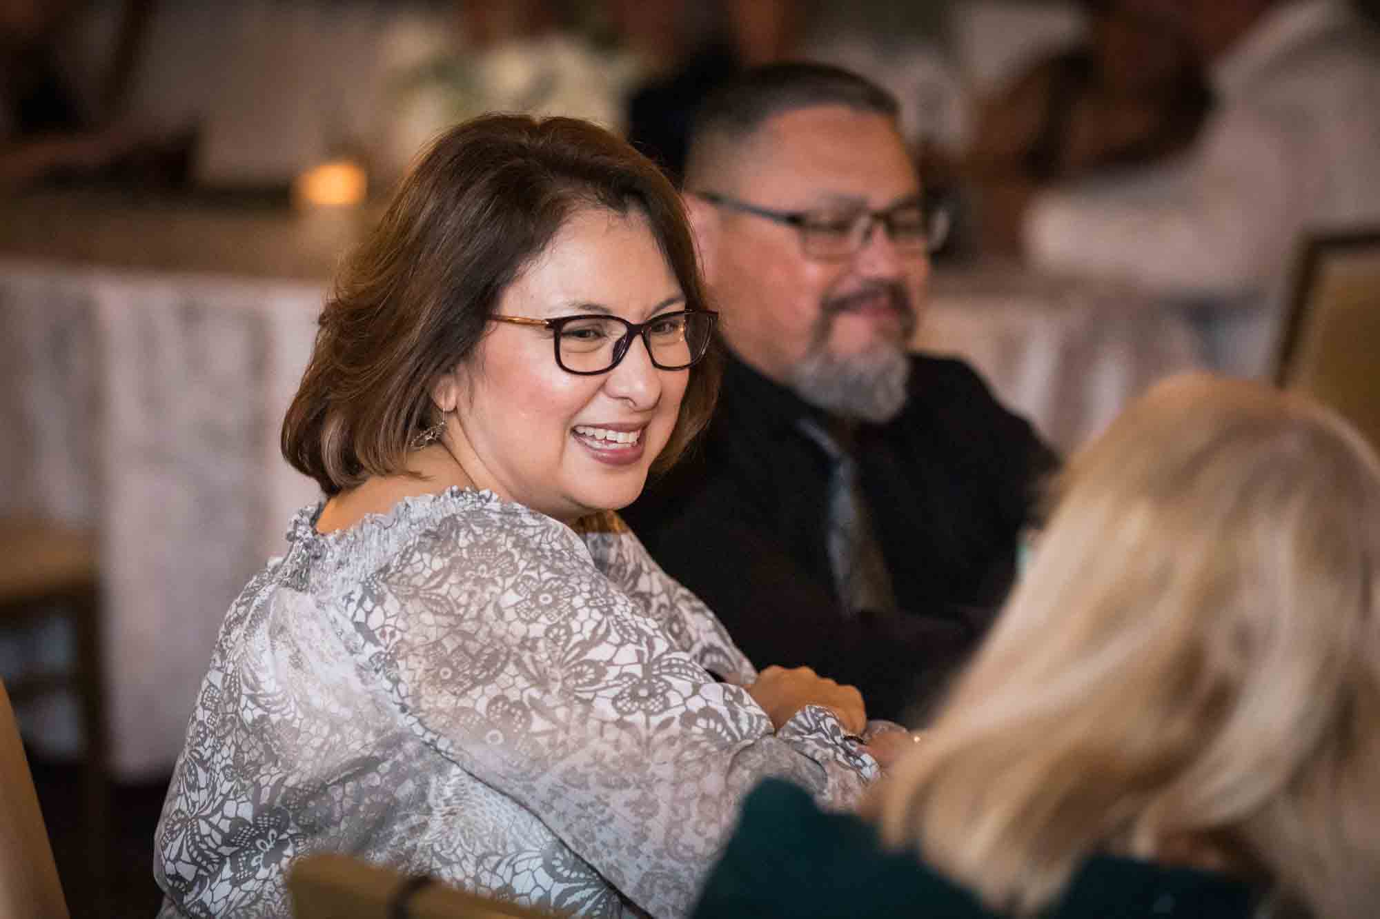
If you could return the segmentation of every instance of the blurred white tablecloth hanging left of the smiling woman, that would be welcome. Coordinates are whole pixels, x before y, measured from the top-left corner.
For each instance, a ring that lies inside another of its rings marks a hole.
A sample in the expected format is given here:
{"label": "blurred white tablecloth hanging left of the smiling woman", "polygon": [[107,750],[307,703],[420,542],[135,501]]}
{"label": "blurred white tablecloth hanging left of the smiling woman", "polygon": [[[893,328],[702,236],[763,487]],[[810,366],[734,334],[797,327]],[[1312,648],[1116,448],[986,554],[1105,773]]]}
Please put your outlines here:
{"label": "blurred white tablecloth hanging left of the smiling woman", "polygon": [[316,498],[277,431],[322,295],[0,261],[0,511],[99,533],[120,775],[168,769],[229,602]]}

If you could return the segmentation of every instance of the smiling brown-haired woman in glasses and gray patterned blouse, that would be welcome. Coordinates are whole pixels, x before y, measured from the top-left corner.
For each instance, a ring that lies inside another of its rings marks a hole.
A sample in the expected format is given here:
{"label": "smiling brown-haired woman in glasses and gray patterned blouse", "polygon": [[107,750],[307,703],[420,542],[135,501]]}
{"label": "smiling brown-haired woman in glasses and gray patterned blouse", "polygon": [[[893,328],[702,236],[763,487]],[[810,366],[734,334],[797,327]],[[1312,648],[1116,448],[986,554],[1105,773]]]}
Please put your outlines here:
{"label": "smiling brown-haired woman in glasses and gray patterned blouse", "polygon": [[857,800],[857,690],[759,675],[615,513],[707,424],[715,319],[679,196],[611,134],[490,116],[431,148],[283,422],[324,500],[226,617],[164,916],[287,916],[319,850],[679,916],[758,778]]}

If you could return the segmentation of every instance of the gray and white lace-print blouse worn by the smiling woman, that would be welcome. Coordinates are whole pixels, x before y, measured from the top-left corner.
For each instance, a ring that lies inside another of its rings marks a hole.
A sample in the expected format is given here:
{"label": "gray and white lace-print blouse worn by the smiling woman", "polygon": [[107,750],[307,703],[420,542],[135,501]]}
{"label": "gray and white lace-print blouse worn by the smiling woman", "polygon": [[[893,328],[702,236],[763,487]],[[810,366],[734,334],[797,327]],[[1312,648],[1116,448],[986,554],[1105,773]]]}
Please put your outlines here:
{"label": "gray and white lace-print blouse worn by the smiling woman", "polygon": [[[288,552],[232,604],[155,842],[164,916],[288,916],[346,851],[522,904],[683,915],[740,798],[851,804],[876,763],[756,673],[617,515],[581,533],[484,491],[410,498]],[[722,678],[720,682],[718,678]]]}

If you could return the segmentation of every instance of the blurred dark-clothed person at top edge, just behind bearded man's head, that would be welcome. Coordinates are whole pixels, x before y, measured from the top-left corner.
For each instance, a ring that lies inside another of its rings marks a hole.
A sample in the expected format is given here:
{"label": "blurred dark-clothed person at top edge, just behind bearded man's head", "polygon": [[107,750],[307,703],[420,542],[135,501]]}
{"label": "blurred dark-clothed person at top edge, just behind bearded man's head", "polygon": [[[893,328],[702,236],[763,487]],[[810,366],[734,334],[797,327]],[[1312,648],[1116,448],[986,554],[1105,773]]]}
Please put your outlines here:
{"label": "blurred dark-clothed person at top edge, just behind bearded man's head", "polygon": [[805,6],[792,0],[610,0],[618,32],[649,73],[628,98],[628,141],[679,185],[696,109],[742,68],[787,57],[807,17]]}

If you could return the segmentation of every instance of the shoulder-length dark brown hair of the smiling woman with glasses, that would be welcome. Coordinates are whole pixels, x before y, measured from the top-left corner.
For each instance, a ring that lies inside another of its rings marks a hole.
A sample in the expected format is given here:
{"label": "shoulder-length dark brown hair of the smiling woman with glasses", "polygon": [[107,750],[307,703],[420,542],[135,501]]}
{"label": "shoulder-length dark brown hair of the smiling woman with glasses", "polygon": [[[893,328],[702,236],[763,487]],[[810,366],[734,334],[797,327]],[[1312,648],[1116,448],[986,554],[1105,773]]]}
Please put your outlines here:
{"label": "shoulder-length dark brown hair of the smiling woman with glasses", "polygon": [[[466,121],[428,149],[342,266],[283,419],[287,461],[326,494],[402,472],[408,442],[436,419],[433,381],[471,357],[504,290],[589,207],[644,215],[686,309],[705,308],[680,197],[649,159],[575,119]],[[656,469],[713,408],[713,349],[687,373]]]}

